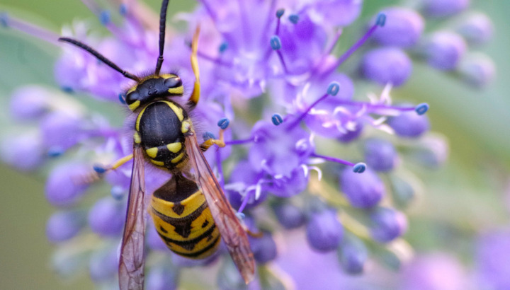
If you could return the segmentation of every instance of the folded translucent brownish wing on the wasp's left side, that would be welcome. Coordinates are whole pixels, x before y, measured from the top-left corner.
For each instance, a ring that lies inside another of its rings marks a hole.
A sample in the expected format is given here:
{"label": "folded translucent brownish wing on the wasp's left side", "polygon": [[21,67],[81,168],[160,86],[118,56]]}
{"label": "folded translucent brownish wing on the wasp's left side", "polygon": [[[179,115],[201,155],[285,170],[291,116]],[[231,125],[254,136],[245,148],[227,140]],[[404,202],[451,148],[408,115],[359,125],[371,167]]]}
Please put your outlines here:
{"label": "folded translucent brownish wing on the wasp's left side", "polygon": [[120,290],[143,289],[145,234],[145,160],[140,144],[133,146],[133,166],[128,197],[128,211],[120,248]]}

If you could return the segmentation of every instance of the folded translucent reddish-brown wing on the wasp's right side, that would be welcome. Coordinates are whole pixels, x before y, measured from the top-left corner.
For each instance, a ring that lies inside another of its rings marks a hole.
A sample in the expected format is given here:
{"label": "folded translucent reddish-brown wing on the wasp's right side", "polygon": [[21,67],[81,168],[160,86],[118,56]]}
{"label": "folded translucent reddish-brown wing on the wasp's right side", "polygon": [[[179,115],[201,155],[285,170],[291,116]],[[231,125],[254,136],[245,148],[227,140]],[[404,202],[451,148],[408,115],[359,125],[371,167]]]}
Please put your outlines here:
{"label": "folded translucent reddish-brown wing on the wasp's right side", "polygon": [[223,194],[223,190],[212,173],[198,145],[195,134],[186,134],[186,153],[195,170],[196,182],[208,203],[220,235],[239,269],[244,282],[248,284],[255,275],[255,260],[249,246],[248,236],[237,219],[232,207]]}

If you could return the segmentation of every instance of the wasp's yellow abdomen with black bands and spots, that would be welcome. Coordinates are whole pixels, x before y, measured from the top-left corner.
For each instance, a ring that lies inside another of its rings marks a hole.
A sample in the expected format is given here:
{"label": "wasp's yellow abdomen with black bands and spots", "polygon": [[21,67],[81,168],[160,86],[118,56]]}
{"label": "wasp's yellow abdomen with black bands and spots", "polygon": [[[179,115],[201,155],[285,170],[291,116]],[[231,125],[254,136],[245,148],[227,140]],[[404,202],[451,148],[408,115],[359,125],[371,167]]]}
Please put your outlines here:
{"label": "wasp's yellow abdomen with black bands and spots", "polygon": [[187,178],[173,177],[154,192],[149,214],[159,236],[178,255],[202,259],[220,245],[220,232],[205,197]]}

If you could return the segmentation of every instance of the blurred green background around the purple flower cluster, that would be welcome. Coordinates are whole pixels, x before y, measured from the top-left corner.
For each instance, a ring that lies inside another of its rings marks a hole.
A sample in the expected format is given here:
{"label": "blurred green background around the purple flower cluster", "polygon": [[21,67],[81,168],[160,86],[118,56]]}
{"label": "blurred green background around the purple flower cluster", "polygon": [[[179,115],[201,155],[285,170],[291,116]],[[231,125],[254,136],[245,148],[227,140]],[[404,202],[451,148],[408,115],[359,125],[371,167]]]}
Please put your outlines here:
{"label": "blurred green background around the purple flower cluster", "polygon": [[[171,10],[189,8],[184,2],[173,1]],[[363,13],[372,15],[380,6],[396,2],[365,0]],[[510,72],[510,1],[472,2],[492,18],[496,29],[494,39],[480,48],[497,64],[494,83],[476,90],[453,76],[418,64],[409,83],[393,91],[396,98],[429,103],[433,131],[445,134],[450,141],[448,164],[419,173],[426,192],[409,212],[407,240],[417,250],[442,248],[458,253],[467,265],[470,238],[481,228],[508,225],[510,207],[506,201],[510,180],[510,81],[506,75]],[[147,1],[154,11],[159,3]],[[1,0],[0,10],[56,32],[77,18],[88,19],[102,29],[79,0]],[[29,83],[52,86],[52,63],[57,56],[52,45],[0,28],[1,124],[9,123],[7,104],[14,88]],[[12,132],[7,126],[0,137]],[[18,173],[0,165],[0,288],[91,289],[93,284],[86,274],[63,281],[50,269],[52,245],[45,239],[45,222],[53,209],[43,195],[44,176]]]}

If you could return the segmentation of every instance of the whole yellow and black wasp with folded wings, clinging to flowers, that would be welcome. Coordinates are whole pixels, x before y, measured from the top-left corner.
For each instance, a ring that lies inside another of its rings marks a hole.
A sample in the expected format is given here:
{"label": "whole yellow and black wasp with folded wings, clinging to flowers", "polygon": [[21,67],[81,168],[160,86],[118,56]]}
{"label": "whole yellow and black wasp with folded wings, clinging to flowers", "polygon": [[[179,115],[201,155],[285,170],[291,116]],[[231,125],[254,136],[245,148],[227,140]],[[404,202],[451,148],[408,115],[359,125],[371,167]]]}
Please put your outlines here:
{"label": "whole yellow and black wasp with folded wings, clinging to flowers", "polygon": [[[219,182],[212,173],[203,151],[220,139],[198,144],[188,112],[200,98],[198,72],[198,35],[191,42],[191,66],[195,75],[193,92],[185,105],[174,98],[183,96],[183,82],[176,74],[160,74],[163,64],[166,11],[169,0],[162,1],[159,19],[159,56],[154,74],[135,76],[120,69],[88,45],[69,37],[60,37],[94,55],[104,64],[136,82],[125,92],[125,103],[137,114],[133,128],[133,151],[113,163],[114,170],[133,159],[128,209],[120,248],[118,268],[120,289],[143,289],[145,221],[152,216],[159,236],[170,250],[191,258],[215,253],[220,237],[246,284],[254,278],[255,262],[244,226],[227,201]],[[154,192],[145,204],[145,161],[171,173],[171,179]]]}

